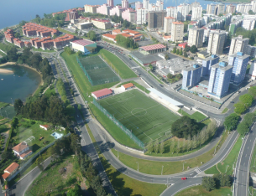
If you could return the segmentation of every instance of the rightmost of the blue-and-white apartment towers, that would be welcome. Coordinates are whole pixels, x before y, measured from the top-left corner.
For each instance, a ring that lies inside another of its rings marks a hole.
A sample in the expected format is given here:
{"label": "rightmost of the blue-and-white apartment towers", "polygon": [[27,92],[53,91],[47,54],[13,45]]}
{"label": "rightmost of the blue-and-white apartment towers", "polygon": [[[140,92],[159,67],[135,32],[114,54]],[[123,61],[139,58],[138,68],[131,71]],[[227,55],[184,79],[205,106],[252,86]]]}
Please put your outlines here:
{"label": "rightmost of the blue-and-white apartment towers", "polygon": [[248,61],[249,55],[242,52],[228,56],[228,65],[232,66],[231,82],[234,85],[239,85],[243,82]]}

